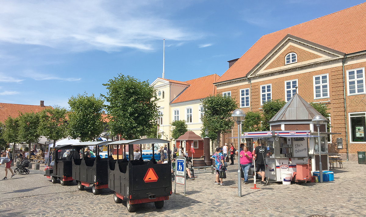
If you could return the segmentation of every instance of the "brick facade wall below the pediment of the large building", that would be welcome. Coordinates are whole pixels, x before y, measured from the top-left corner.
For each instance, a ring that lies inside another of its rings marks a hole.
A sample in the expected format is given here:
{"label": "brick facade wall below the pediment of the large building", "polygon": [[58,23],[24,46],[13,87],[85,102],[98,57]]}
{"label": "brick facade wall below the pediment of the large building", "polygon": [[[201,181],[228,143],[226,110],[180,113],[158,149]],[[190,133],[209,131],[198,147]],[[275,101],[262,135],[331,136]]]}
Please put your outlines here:
{"label": "brick facade wall below the pediment of the large building", "polygon": [[[347,65],[344,68],[345,79],[347,82],[346,71],[348,69],[366,67],[366,62],[358,64]],[[329,74],[329,98],[315,99],[313,91],[313,76]],[[342,67],[333,67],[329,69],[323,69],[314,72],[302,73],[298,75],[290,75],[281,77],[278,79],[270,79],[266,81],[253,82],[251,84],[251,110],[261,111],[260,105],[260,85],[272,84],[272,99],[284,99],[285,98],[285,84],[287,80],[298,79],[298,93],[306,100],[306,102],[322,102],[328,101],[327,106],[330,108],[330,121],[332,125],[332,132],[341,133],[340,135],[332,135],[332,143],[328,144],[329,153],[346,153],[346,129],[344,122],[344,99],[343,99],[343,76]],[[239,90],[243,88],[249,88],[250,85],[239,85],[237,87],[225,88],[217,90],[218,93],[231,91],[231,96],[235,98],[239,106]],[[347,129],[348,129],[348,148],[349,153],[357,153],[357,151],[366,151],[366,144],[354,144],[350,143],[350,126],[348,121],[349,112],[362,112],[366,111],[366,94],[347,96],[347,83],[346,83],[346,104],[347,104]],[[244,112],[250,111],[250,108],[242,108]],[[237,135],[237,129],[234,127],[233,135]],[[344,149],[337,149],[336,138],[343,138]]]}

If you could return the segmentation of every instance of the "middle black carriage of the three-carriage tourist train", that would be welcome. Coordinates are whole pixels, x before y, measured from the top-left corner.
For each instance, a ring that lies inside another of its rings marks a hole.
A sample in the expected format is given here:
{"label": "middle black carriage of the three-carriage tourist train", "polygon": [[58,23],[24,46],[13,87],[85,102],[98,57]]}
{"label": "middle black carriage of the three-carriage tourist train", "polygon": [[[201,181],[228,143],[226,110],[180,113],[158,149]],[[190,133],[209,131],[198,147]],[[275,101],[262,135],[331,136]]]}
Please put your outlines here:
{"label": "middle black carriage of the three-carriage tourist train", "polygon": [[87,157],[84,154],[85,148],[92,146],[92,149],[99,146],[107,145],[111,141],[99,142],[80,142],[72,145],[72,147],[79,153],[82,150],[82,157],[75,155],[72,161],[72,178],[76,180],[79,190],[84,190],[84,187],[92,185],[92,192],[94,195],[100,193],[100,189],[108,188],[108,158],[100,157],[100,150],[96,148],[94,157]]}

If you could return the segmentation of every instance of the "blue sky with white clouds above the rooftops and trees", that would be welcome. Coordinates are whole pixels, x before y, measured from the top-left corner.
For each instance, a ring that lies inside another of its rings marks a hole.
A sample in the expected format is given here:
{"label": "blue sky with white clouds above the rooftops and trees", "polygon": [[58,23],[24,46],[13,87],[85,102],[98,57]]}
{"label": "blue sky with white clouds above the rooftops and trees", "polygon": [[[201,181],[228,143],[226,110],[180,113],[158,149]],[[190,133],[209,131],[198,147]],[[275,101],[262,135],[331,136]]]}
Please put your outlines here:
{"label": "blue sky with white clouds above the rooftops and trees", "polygon": [[68,107],[134,76],[223,75],[260,37],[363,1],[1,1],[0,102]]}

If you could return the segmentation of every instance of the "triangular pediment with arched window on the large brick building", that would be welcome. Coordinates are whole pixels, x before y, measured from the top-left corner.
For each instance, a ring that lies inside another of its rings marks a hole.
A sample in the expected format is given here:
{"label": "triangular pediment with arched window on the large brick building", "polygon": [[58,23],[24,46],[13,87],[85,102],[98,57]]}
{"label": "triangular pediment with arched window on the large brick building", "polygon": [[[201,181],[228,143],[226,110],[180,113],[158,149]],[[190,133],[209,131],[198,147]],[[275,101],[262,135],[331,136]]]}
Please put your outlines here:
{"label": "triangular pediment with arched window on the large brick building", "polygon": [[[285,64],[285,57],[289,53],[295,53],[297,61]],[[311,65],[338,58],[344,53],[307,41],[293,35],[286,35],[259,63],[247,74],[247,77],[255,77],[272,73],[283,69],[298,66]]]}

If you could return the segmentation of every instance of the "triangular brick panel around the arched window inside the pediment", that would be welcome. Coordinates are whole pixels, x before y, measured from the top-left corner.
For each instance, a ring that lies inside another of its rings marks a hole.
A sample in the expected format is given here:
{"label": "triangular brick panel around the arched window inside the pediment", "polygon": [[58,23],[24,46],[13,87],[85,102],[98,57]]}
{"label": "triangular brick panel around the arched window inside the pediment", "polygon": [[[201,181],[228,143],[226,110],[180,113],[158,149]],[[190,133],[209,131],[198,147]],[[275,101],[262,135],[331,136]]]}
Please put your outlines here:
{"label": "triangular brick panel around the arched window inside the pediment", "polygon": [[288,46],[275,60],[273,60],[273,62],[271,62],[271,64],[269,64],[267,66],[266,69],[273,69],[273,68],[277,68],[280,66],[284,66],[285,65],[285,56],[288,53],[294,52],[297,54],[297,62],[304,62],[304,61],[308,61],[308,60],[314,60],[317,58],[320,58],[321,56],[311,53],[309,51],[303,50],[299,47],[295,47],[293,45]]}

